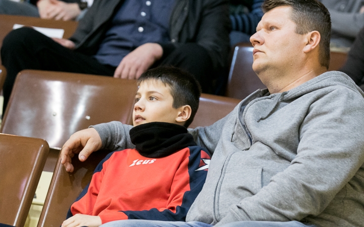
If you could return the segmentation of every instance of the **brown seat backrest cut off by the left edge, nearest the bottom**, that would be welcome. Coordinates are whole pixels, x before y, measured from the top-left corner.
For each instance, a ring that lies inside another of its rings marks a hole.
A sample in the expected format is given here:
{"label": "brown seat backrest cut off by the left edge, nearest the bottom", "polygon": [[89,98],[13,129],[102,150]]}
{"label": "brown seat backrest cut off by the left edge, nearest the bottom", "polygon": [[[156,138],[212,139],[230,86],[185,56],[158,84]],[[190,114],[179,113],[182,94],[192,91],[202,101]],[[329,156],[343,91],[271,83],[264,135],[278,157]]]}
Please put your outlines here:
{"label": "brown seat backrest cut off by the left edge, nearest the bottom", "polygon": [[0,134],[0,223],[24,226],[48,152],[42,139]]}

